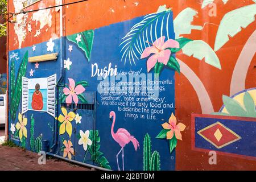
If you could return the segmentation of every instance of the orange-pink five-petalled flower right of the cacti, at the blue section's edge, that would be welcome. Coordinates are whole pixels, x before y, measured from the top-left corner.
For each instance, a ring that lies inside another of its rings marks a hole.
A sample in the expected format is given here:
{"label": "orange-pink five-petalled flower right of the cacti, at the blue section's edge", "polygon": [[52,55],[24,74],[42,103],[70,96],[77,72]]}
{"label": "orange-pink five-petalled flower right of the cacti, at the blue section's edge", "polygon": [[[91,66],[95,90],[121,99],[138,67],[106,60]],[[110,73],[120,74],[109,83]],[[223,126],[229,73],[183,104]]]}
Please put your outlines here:
{"label": "orange-pink five-petalled flower right of the cacti, at the blue section's edge", "polygon": [[177,123],[177,119],[174,115],[174,113],[172,113],[171,117],[169,118],[169,121],[168,123],[163,123],[163,128],[164,129],[167,129],[167,130],[170,130],[166,133],[166,139],[169,140],[169,139],[172,139],[172,137],[174,137],[174,134],[175,134],[175,137],[179,140],[182,140],[182,136],[181,136],[181,133],[180,131],[184,131],[185,130],[185,125],[183,123]]}

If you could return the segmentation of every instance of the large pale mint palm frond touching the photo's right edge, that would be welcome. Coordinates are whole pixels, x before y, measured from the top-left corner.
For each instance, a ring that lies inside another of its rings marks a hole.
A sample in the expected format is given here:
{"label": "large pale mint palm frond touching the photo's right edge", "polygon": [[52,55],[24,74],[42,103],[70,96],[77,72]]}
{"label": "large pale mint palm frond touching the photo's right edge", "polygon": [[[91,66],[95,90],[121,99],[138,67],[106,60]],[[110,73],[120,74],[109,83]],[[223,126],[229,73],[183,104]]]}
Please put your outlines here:
{"label": "large pale mint palm frond touching the photo's right edge", "polygon": [[[218,27],[214,51],[218,51],[229,41],[229,36],[234,37],[242,28],[253,23],[256,14],[256,4],[244,6],[225,14]],[[242,28],[241,28],[242,27]]]}

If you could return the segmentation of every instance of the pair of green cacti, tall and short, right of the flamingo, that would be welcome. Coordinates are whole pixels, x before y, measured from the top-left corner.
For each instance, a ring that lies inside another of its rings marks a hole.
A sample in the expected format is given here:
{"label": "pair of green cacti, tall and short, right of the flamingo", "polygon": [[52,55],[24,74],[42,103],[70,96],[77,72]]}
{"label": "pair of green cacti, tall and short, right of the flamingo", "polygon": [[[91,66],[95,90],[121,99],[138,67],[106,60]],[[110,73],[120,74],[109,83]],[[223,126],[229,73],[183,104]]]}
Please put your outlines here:
{"label": "pair of green cacti, tall and short, right of the flamingo", "polygon": [[151,138],[146,134],[143,146],[143,170],[144,171],[160,171],[160,155],[158,151],[151,154]]}

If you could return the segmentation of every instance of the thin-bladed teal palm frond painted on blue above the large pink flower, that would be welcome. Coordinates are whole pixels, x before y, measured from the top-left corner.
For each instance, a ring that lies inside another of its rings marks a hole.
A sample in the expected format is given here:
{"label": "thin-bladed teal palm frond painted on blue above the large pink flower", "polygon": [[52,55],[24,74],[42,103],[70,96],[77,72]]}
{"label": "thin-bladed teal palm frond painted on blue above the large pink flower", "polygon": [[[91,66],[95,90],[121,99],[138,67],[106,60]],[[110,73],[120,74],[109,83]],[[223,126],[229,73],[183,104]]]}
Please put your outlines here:
{"label": "thin-bladed teal palm frond painted on blue above the large pink flower", "polygon": [[169,24],[171,11],[162,11],[159,13],[152,13],[144,16],[143,20],[133,27],[122,38],[122,43],[119,44],[121,48],[121,61],[129,60],[130,64],[135,64],[135,60],[139,60],[143,50],[150,47],[150,43],[155,42],[158,38],[165,35],[168,39],[171,24]]}

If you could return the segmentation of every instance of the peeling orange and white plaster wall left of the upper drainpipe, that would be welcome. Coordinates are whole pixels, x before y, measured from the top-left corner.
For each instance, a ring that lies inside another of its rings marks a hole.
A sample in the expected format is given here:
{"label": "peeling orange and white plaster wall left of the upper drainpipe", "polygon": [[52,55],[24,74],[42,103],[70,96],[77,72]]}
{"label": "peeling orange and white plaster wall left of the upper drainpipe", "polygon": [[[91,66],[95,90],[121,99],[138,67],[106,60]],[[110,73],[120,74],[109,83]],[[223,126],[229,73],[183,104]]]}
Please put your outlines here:
{"label": "peeling orange and white plaster wall left of the upper drainpipe", "polygon": [[[19,13],[23,9],[23,2],[24,0],[10,2],[9,11]],[[24,8],[24,11],[42,9],[54,5],[55,1],[39,1],[34,5]],[[55,9],[18,14],[16,16],[16,23],[9,23],[9,34],[14,35],[10,37],[9,50],[26,47],[26,45],[36,42],[40,43],[46,35],[48,35],[48,39],[51,38],[52,34],[56,35],[56,31],[59,31],[58,27],[55,27],[56,22],[59,22],[59,20],[56,20],[59,19],[58,14]],[[44,35],[41,35],[42,32],[44,32]]]}

